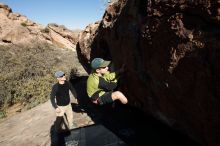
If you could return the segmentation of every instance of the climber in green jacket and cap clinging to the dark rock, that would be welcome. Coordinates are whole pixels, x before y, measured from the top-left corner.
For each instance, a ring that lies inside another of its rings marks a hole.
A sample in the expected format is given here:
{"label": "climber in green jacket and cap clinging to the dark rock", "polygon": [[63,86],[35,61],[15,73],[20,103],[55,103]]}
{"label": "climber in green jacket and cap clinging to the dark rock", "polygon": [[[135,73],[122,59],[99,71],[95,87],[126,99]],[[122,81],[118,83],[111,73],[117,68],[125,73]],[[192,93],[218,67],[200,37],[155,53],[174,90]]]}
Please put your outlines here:
{"label": "climber in green jacket and cap clinging to the dark rock", "polygon": [[110,61],[102,58],[95,58],[91,62],[92,72],[87,80],[87,94],[94,104],[103,105],[119,100],[122,104],[127,104],[128,100],[120,91],[114,91],[117,87],[119,75],[124,72],[122,66],[116,72],[109,72]]}

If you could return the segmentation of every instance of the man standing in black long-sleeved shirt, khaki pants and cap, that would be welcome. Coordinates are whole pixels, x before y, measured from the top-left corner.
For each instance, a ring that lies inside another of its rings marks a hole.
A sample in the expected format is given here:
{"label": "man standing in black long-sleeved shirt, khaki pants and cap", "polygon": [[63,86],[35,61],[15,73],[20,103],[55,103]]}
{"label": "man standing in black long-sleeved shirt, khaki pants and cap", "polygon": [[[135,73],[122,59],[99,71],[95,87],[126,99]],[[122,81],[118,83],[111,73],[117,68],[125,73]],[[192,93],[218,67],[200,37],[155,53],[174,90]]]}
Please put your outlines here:
{"label": "man standing in black long-sleeved shirt, khaki pants and cap", "polygon": [[[72,87],[71,83],[66,81],[66,76],[63,71],[55,72],[55,77],[57,78],[58,82],[53,85],[52,91],[50,94],[50,99],[52,106],[55,108],[56,111],[56,125],[60,127],[62,120],[64,119],[64,114],[66,114],[66,118],[68,121],[68,128],[74,128],[73,125],[73,111],[70,102],[70,95],[69,91],[72,92],[74,97],[76,98],[75,89]],[[57,129],[57,127],[55,127]]]}

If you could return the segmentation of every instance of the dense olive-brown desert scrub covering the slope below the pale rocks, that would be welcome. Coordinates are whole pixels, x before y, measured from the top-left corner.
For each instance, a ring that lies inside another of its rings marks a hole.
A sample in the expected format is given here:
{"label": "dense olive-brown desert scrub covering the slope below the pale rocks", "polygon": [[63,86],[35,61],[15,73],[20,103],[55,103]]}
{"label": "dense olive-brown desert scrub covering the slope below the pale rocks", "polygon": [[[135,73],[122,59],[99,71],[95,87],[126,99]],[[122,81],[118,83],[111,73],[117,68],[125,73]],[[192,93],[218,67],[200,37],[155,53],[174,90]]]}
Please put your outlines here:
{"label": "dense olive-brown desert scrub covering the slope below the pale rocks", "polygon": [[44,43],[31,46],[0,46],[0,118],[9,106],[22,103],[26,109],[49,99],[53,73],[76,68],[73,52]]}

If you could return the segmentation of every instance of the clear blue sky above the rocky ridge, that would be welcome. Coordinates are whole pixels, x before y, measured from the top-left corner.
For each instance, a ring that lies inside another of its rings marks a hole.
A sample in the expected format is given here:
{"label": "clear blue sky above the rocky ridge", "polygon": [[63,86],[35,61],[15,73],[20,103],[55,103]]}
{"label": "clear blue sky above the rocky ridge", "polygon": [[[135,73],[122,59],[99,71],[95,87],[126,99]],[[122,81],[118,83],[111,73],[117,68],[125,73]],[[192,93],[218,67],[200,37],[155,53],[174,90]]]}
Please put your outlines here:
{"label": "clear blue sky above the rocky ridge", "polygon": [[69,29],[84,29],[89,23],[101,20],[105,0],[0,0],[15,13],[46,26],[65,25]]}

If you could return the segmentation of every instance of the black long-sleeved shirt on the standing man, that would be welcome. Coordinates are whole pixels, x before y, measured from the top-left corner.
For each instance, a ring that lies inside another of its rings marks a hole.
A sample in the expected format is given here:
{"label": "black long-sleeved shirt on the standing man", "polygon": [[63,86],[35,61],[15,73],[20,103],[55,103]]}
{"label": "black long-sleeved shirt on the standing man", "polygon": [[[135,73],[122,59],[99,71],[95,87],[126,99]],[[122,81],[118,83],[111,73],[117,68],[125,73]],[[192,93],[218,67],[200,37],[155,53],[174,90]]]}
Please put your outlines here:
{"label": "black long-sleeved shirt on the standing man", "polygon": [[[69,90],[76,97],[75,89],[72,87],[72,85],[68,81],[65,81],[64,84],[56,83],[53,85],[52,91],[50,94],[50,99],[51,99],[52,106],[54,108],[57,108],[57,105],[66,106],[70,103]],[[55,98],[56,98],[56,102],[55,102]]]}

